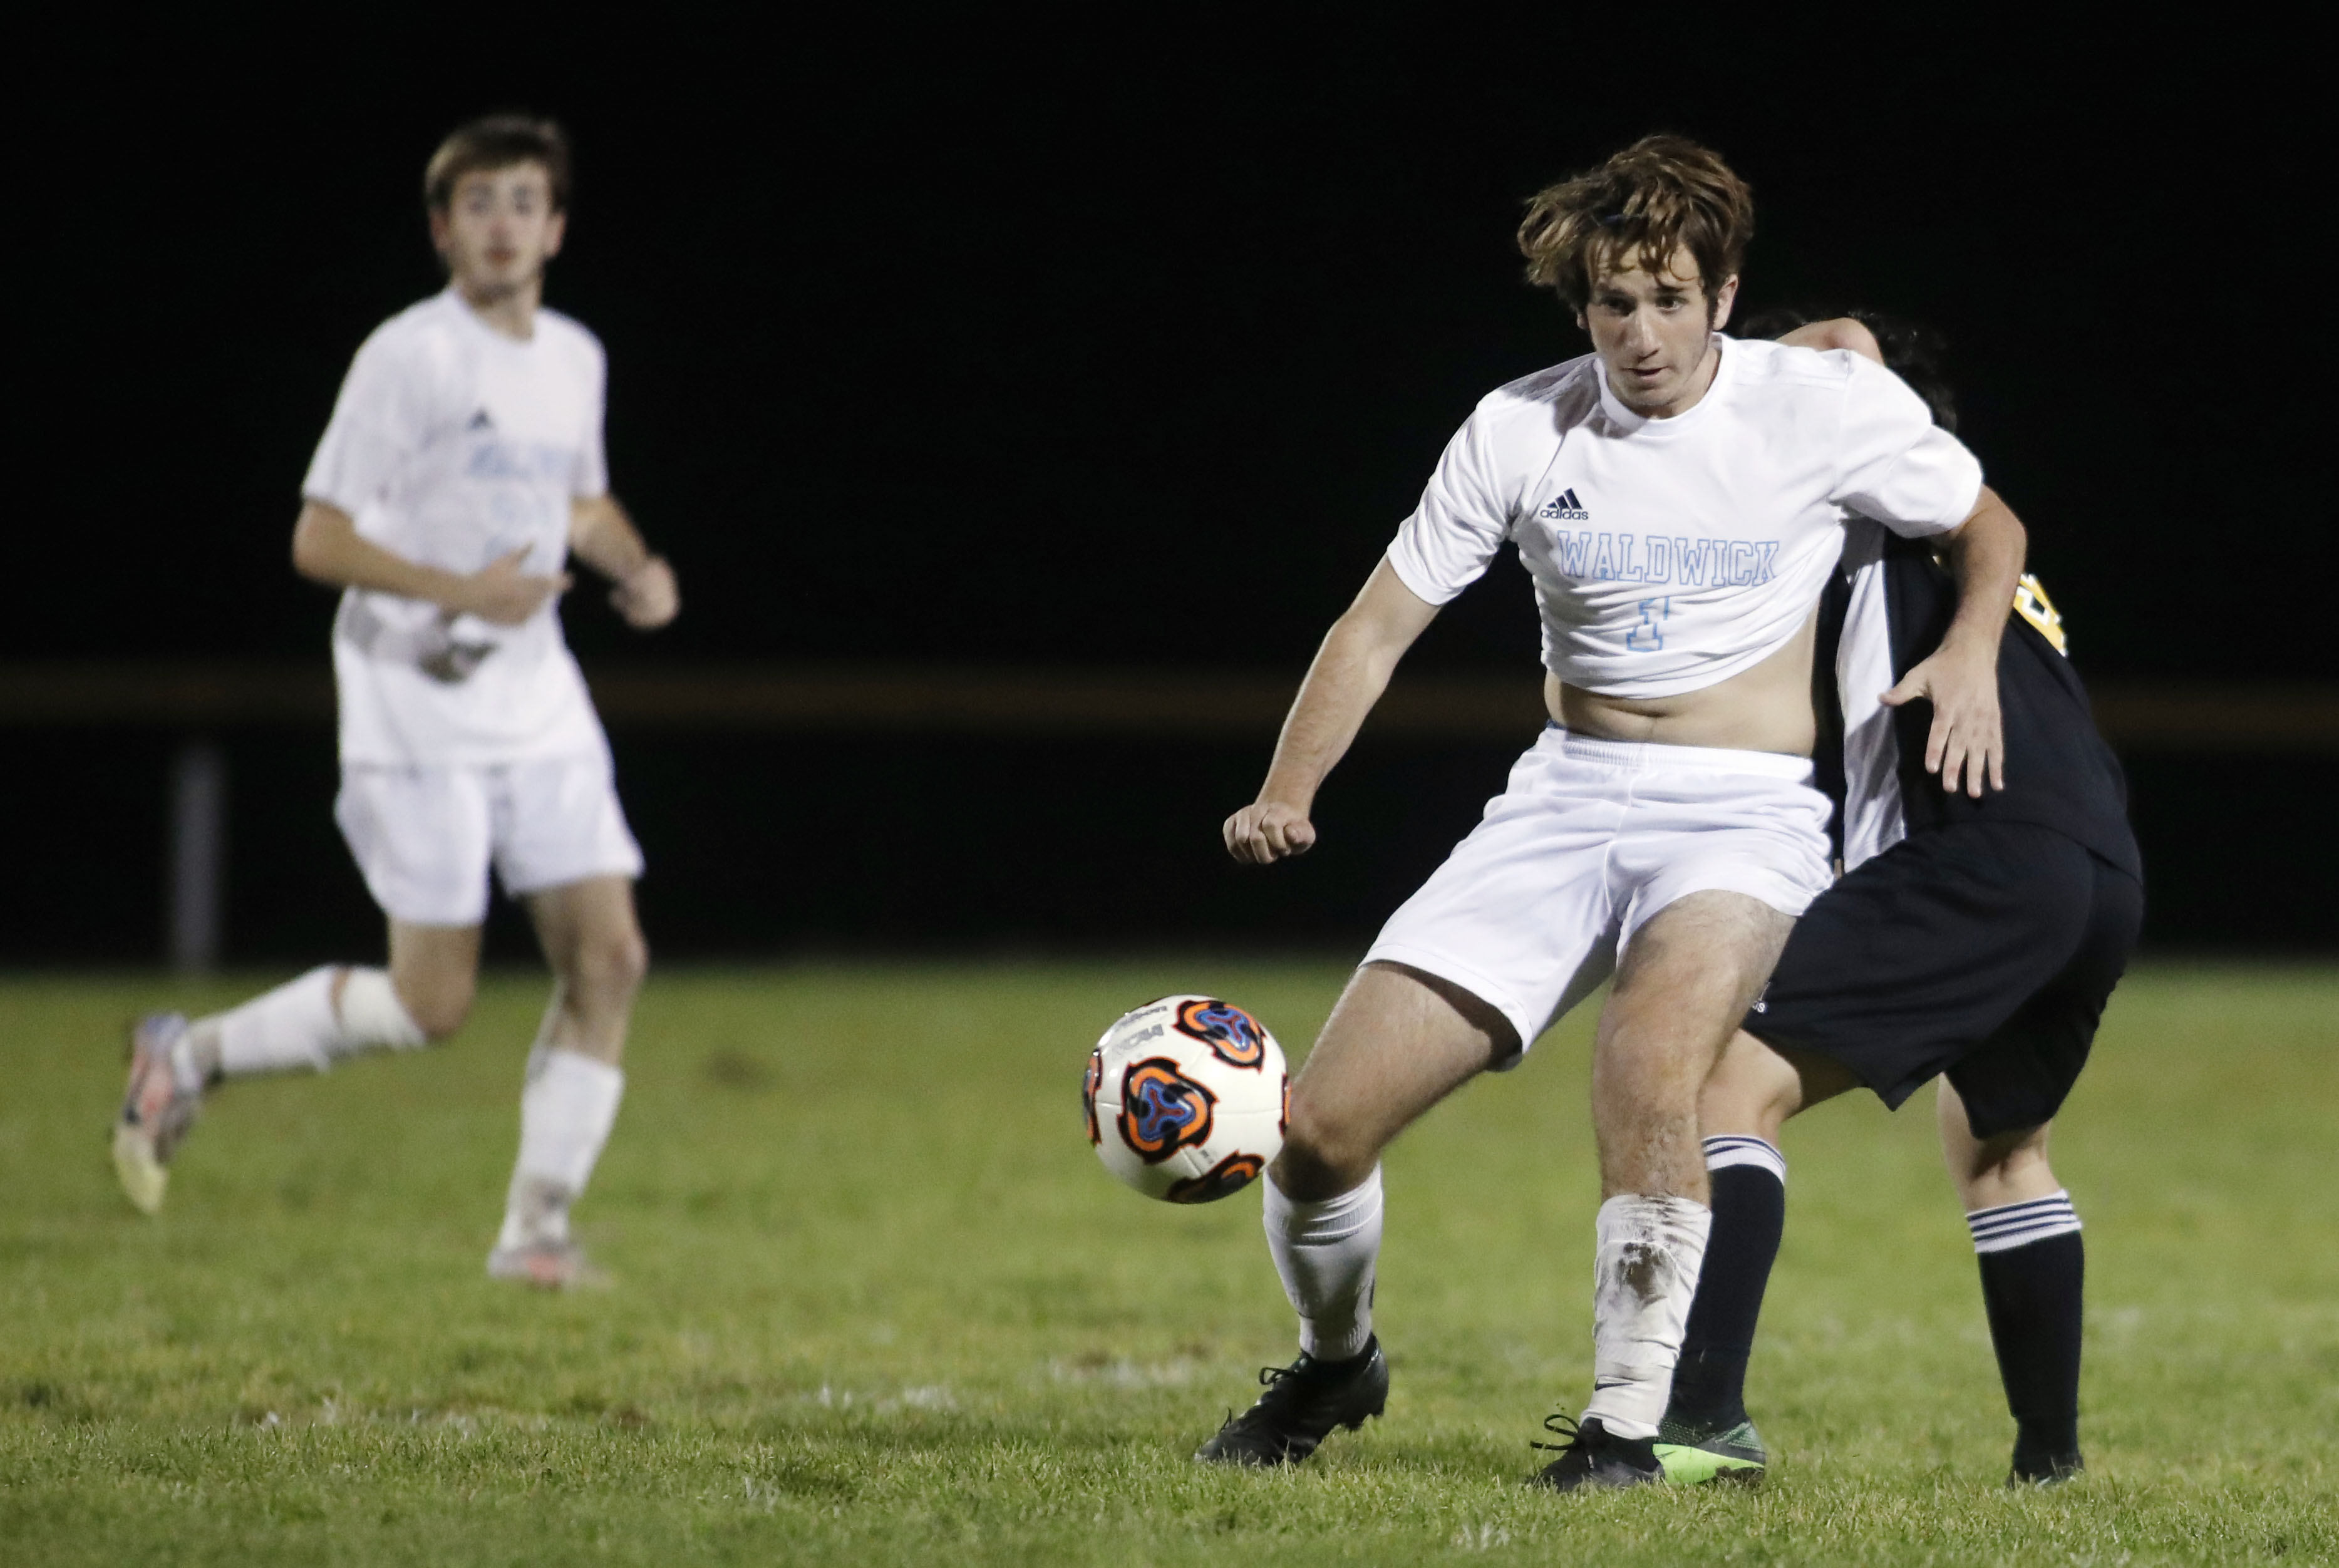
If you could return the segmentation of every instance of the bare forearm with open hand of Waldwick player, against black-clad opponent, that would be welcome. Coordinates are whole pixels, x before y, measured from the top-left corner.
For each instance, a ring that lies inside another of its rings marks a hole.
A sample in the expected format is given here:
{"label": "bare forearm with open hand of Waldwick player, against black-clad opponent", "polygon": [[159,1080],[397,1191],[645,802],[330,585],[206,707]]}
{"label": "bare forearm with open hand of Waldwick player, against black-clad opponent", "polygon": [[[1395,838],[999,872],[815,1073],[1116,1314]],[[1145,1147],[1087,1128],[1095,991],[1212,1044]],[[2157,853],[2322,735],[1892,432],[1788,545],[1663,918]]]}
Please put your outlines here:
{"label": "bare forearm with open hand of Waldwick player, against black-clad opponent", "polygon": [[1883,693],[1899,707],[1918,697],[1932,700],[1932,735],[1925,740],[1925,770],[1941,775],[1944,789],[1981,798],[2007,786],[2007,740],[1998,711],[1998,639],[2007,630],[2007,606],[2023,576],[2028,534],[2021,517],[1988,484],[1974,513],[1946,536],[1948,571],[1958,580],[1958,615],[1948,634],[1925,662],[1899,686]]}

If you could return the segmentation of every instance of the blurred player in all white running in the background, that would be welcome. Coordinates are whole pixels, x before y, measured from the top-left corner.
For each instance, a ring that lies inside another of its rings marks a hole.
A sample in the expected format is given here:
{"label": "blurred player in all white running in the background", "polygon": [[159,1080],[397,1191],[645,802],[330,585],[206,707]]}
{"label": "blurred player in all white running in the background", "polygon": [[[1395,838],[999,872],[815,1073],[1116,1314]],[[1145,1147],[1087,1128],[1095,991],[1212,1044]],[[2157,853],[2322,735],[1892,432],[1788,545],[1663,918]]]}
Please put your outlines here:
{"label": "blurred player in all white running in the background", "polygon": [[423,197],[449,286],[358,349],[292,531],[302,576],[344,590],[334,817],[388,915],[388,969],[327,964],[227,1013],[145,1018],[115,1168],[154,1212],[208,1086],[461,1027],[494,864],[529,906],[554,988],[487,1268],[561,1287],[585,1275],[568,1208],[617,1116],[648,953],[641,850],[557,601],[571,555],[615,583],[634,627],[674,620],[678,597],[608,494],[601,344],[543,309],[566,229],[559,126],[501,115],[458,129]]}

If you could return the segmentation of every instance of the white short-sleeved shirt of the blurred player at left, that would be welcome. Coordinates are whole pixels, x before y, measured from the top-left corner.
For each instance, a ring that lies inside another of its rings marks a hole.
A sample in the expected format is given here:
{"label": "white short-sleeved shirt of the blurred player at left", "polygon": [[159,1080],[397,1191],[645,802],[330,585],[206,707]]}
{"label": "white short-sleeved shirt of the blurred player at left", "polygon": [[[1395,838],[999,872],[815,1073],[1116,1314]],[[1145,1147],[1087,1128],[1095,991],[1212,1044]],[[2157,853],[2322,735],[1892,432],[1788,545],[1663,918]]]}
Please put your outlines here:
{"label": "white short-sleeved shirt of the blurred player at left", "polygon": [[[557,311],[496,332],[447,290],[358,349],[302,494],[409,562],[472,573],[568,559],[568,508],[608,489],[601,344]],[[603,754],[557,601],[517,627],[351,587],[334,618],[341,761],[494,765]]]}

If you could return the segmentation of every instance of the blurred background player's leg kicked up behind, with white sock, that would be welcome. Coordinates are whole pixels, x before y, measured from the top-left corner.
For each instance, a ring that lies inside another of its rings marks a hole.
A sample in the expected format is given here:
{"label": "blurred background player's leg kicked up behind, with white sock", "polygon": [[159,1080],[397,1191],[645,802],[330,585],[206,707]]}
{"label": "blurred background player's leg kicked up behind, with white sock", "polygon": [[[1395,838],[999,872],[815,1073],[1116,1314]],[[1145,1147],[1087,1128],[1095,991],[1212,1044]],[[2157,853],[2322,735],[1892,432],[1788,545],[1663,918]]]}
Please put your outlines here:
{"label": "blurred background player's leg kicked up behind, with white sock", "polygon": [[[440,936],[437,945],[447,945],[447,934]],[[470,955],[465,964],[477,964],[475,929],[456,931],[454,945]],[[458,997],[442,997],[444,985],[423,988],[421,1020],[400,999],[393,971],[405,978],[414,969],[412,943],[407,948],[400,953],[393,927],[391,971],[323,967],[194,1023],[180,1013],[140,1020],[131,1030],[131,1081],[115,1119],[115,1175],[129,1201],[147,1215],[161,1208],[171,1156],[213,1084],[269,1072],[325,1072],[349,1055],[412,1051],[461,1027],[470,1006],[468,981]]]}

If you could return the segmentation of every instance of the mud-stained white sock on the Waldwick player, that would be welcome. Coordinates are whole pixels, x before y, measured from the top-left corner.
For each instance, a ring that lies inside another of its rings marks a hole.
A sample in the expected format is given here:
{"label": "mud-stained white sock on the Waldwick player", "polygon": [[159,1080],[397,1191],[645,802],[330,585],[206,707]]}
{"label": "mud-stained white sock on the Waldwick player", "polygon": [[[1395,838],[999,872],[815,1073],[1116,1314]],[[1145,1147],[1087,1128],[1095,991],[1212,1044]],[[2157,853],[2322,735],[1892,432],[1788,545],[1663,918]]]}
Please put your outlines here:
{"label": "mud-stained white sock on the Waldwick player", "polygon": [[1714,1212],[1691,1198],[1628,1194],[1600,1205],[1586,1421],[1598,1416],[1616,1437],[1656,1437],[1712,1224]]}

